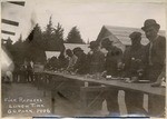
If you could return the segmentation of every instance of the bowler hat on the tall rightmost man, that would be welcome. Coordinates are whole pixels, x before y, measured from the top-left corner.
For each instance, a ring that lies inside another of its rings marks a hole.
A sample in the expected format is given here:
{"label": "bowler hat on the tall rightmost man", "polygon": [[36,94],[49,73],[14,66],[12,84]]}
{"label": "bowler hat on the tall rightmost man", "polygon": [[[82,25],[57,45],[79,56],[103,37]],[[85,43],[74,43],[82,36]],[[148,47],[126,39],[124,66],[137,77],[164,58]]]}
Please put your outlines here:
{"label": "bowler hat on the tall rightmost man", "polygon": [[156,27],[157,29],[160,28],[160,26],[156,22],[154,19],[147,19],[144,23],[144,27],[141,28],[144,31],[148,29],[149,27]]}

